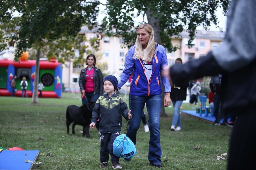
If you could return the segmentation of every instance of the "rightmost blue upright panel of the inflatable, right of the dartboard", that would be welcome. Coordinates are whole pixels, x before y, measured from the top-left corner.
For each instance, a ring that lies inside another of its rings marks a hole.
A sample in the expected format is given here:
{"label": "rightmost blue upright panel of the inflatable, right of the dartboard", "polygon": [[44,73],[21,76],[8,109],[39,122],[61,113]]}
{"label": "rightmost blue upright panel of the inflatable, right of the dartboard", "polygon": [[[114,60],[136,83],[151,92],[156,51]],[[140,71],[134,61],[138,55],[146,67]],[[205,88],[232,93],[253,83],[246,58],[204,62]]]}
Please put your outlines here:
{"label": "rightmost blue upright panel of the inflatable, right of the dartboard", "polygon": [[[55,69],[54,69],[54,92],[57,94],[57,96],[60,98],[61,97],[61,92],[62,92],[62,65],[59,64]],[[57,83],[60,81],[60,83]]]}

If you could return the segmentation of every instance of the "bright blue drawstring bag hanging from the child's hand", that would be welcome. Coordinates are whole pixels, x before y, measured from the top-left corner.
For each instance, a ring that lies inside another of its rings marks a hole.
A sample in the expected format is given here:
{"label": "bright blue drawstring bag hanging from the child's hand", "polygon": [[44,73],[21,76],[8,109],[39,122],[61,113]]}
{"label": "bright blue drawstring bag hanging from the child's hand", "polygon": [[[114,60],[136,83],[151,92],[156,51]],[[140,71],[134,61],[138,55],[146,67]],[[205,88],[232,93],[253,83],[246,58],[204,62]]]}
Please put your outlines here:
{"label": "bright blue drawstring bag hanging from the child's hand", "polygon": [[113,153],[120,158],[132,158],[137,153],[134,143],[126,136],[129,123],[130,120],[127,123],[125,134],[116,137],[113,143]]}

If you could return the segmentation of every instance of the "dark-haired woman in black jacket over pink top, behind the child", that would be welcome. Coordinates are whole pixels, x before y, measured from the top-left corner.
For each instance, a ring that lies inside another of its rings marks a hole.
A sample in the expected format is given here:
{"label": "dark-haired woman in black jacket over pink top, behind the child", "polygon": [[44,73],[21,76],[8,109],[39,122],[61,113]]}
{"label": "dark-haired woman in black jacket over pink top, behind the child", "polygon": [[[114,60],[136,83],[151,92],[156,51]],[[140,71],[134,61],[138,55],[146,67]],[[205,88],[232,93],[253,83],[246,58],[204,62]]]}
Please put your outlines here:
{"label": "dark-haired woman in black jacket over pink top, behind the child", "polygon": [[95,67],[95,55],[89,54],[87,56],[86,65],[88,66],[81,70],[79,77],[83,105],[92,100],[97,100],[103,94],[103,77],[100,69]]}

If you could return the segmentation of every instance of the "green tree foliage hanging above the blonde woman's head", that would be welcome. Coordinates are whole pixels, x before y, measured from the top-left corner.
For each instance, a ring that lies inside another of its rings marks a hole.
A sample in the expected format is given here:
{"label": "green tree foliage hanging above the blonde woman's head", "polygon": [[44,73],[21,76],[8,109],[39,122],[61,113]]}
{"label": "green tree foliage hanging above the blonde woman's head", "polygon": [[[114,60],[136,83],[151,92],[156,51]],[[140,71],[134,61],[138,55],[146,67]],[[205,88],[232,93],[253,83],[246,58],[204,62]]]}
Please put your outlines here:
{"label": "green tree foliage hanging above the blonde woman's head", "polygon": [[[131,46],[136,40],[137,24],[145,23],[144,20],[135,23],[134,17],[138,17],[140,14],[144,16],[148,12],[150,14],[147,16],[148,20],[151,18],[149,24],[153,27],[159,26],[159,40],[162,42],[158,43],[164,45],[171,52],[177,48],[171,43],[173,35],[179,35],[184,26],[188,26],[190,37],[188,43],[191,46],[196,27],[201,24],[210,26],[211,22],[217,24],[218,18],[215,15],[217,7],[222,6],[226,14],[229,2],[230,0],[109,0],[106,9],[108,17],[103,19],[101,31],[106,32],[108,36],[110,34],[122,35],[124,44]],[[138,10],[136,14],[133,12],[134,9]],[[116,29],[115,33],[112,32],[112,28]]]}

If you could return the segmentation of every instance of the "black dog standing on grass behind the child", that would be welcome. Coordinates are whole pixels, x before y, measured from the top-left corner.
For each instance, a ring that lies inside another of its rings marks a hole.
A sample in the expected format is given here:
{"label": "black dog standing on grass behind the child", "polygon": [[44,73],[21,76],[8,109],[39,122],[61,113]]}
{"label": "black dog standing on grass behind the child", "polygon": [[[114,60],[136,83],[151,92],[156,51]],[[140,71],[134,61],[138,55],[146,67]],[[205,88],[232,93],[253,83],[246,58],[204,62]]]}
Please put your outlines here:
{"label": "black dog standing on grass behind the child", "polygon": [[68,134],[69,125],[74,122],[72,125],[72,134],[75,134],[75,126],[78,124],[83,126],[83,137],[86,135],[87,138],[91,138],[87,126],[91,123],[92,109],[95,105],[95,102],[96,101],[91,101],[81,107],[76,105],[70,105],[67,107],[66,125]]}

